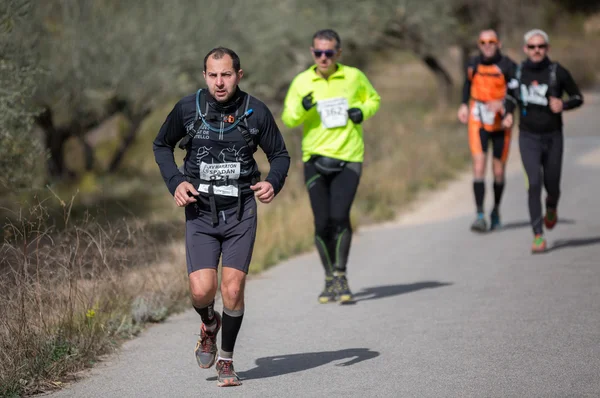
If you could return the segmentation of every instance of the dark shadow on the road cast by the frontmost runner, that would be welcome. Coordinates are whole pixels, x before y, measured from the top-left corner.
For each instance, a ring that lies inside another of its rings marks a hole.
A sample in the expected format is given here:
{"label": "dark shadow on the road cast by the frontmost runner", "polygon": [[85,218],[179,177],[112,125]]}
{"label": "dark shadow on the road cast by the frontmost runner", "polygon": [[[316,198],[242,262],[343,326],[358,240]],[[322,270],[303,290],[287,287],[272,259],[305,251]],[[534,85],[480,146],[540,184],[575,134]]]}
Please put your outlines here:
{"label": "dark shadow on the road cast by the frontmost runner", "polygon": [[[348,348],[339,351],[277,355],[274,357],[258,358],[255,361],[256,367],[237,373],[242,380],[264,379],[302,372],[343,359],[347,359],[347,361],[338,363],[335,366],[350,366],[377,356],[379,356],[379,352],[371,351],[368,348]],[[216,377],[209,377],[206,380],[214,381],[216,379]]]}

